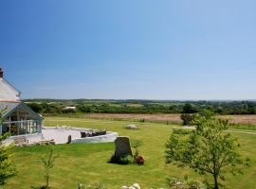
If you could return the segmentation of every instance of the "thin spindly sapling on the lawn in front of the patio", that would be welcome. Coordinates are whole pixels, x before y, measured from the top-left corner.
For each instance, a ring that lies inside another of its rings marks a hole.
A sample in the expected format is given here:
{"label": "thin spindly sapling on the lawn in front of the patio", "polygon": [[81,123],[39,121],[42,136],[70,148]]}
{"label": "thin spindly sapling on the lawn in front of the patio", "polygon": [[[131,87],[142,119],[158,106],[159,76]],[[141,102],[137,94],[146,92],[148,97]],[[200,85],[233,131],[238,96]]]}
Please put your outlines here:
{"label": "thin spindly sapling on the lawn in front of the patio", "polygon": [[45,180],[46,180],[46,185],[42,188],[49,189],[49,179],[50,179],[50,169],[53,168],[54,162],[58,156],[53,155],[53,148],[50,148],[49,153],[45,158],[42,158],[42,162],[44,163],[45,167]]}

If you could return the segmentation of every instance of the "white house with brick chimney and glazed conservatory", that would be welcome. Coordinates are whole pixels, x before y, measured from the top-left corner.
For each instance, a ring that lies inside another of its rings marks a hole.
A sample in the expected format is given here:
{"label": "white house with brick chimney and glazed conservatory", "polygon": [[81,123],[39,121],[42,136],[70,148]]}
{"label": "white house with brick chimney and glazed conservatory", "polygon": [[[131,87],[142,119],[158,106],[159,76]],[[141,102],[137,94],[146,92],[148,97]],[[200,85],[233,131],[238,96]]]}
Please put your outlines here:
{"label": "white house with brick chimney and glazed conservatory", "polygon": [[20,99],[21,93],[4,77],[0,68],[0,135],[9,132],[11,136],[42,132],[43,117],[33,112]]}

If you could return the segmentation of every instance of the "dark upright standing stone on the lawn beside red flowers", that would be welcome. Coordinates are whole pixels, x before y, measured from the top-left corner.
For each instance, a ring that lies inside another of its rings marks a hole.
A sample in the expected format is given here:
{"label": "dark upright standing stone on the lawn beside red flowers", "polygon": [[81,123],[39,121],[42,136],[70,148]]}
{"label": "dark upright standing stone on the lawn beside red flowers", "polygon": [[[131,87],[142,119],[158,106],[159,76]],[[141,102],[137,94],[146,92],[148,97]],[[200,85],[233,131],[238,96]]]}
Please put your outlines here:
{"label": "dark upright standing stone on the lawn beside red flowers", "polygon": [[133,156],[129,137],[119,136],[115,141],[115,146],[116,146],[115,157],[117,159],[126,155]]}

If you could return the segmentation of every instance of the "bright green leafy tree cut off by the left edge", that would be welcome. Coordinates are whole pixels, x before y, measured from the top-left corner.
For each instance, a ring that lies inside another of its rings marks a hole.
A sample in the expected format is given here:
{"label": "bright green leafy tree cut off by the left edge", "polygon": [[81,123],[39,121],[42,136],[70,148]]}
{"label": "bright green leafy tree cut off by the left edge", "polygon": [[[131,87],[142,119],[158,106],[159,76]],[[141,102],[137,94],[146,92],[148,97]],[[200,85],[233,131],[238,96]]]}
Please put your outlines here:
{"label": "bright green leafy tree cut off by the left edge", "polygon": [[[1,119],[0,112],[0,125],[3,120]],[[16,173],[15,165],[12,161],[13,156],[13,145],[6,146],[3,141],[9,137],[9,133],[0,136],[0,185],[4,185],[6,180],[13,177]]]}

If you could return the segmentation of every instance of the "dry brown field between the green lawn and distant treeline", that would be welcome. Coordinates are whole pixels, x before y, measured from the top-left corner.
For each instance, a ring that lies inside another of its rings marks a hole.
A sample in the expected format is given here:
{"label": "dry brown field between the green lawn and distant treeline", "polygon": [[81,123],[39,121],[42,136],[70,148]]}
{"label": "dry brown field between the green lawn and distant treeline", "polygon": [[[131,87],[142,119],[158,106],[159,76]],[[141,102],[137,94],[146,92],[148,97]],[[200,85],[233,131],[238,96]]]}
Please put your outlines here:
{"label": "dry brown field between the green lawn and distant treeline", "polygon": [[[231,124],[256,125],[256,115],[218,115],[217,117],[228,119]],[[140,114],[140,113],[90,113],[83,114],[82,118],[89,119],[123,119],[137,121],[152,121],[152,122],[170,122],[182,123],[180,114],[171,113],[155,113],[155,114]]]}

